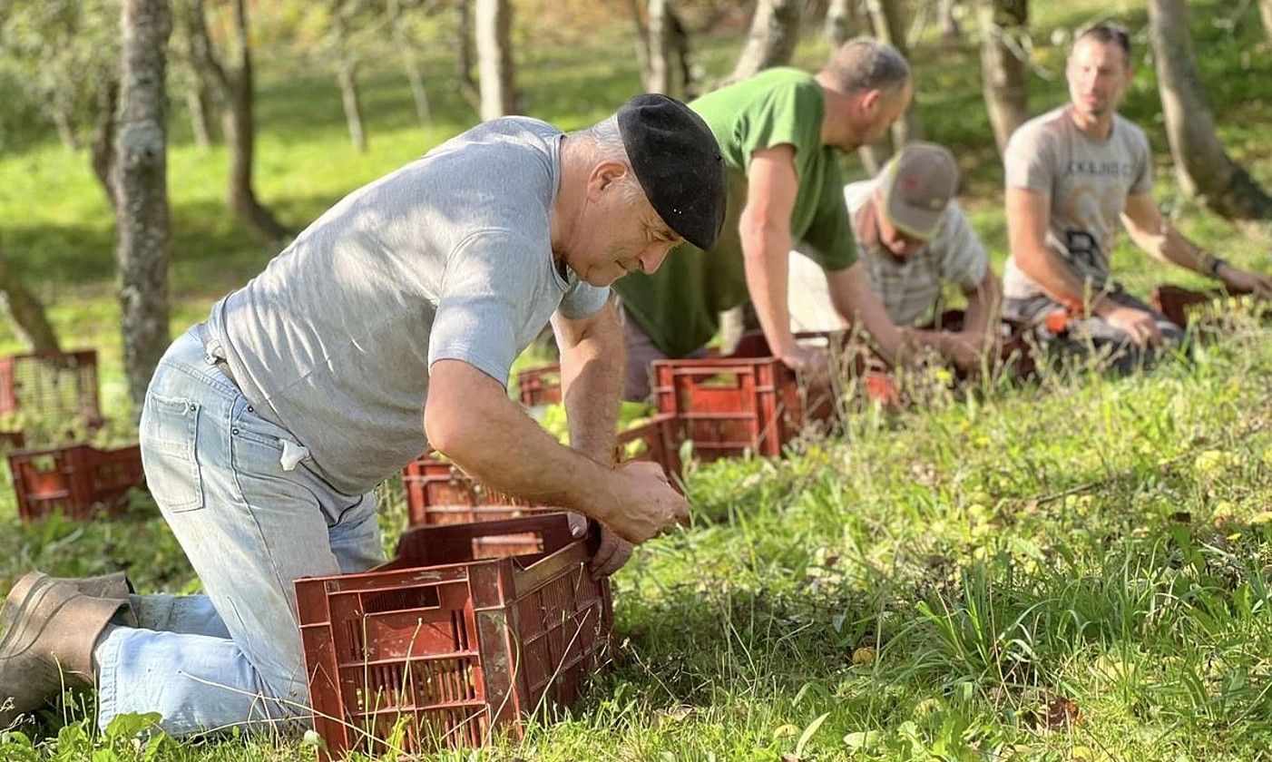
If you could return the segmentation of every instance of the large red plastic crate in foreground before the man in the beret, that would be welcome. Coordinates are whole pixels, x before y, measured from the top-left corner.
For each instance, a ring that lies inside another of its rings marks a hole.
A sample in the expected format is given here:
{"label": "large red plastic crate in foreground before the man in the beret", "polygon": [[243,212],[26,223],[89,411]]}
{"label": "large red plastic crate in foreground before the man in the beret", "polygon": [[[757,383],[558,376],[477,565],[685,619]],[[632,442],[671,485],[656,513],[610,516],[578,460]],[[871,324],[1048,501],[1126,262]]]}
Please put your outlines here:
{"label": "large red plastic crate in foreground before the man in the beret", "polygon": [[[474,539],[527,532],[542,552],[473,556]],[[321,757],[480,745],[492,729],[519,731],[541,701],[572,703],[613,621],[589,542],[565,514],[424,527],[373,571],[296,580]],[[399,748],[385,743],[394,730]]]}

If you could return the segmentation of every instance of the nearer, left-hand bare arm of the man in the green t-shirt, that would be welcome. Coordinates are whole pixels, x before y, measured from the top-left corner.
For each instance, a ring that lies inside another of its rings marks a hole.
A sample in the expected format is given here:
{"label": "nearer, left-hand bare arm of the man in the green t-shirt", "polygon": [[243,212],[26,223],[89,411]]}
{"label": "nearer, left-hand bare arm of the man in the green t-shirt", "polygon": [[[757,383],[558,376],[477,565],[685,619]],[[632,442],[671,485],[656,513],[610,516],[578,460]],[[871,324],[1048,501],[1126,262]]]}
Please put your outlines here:
{"label": "nearer, left-hand bare arm of the man in the green t-shirt", "polygon": [[739,233],[747,290],[773,355],[801,370],[801,354],[791,333],[787,284],[791,249],[791,210],[799,192],[795,149],[782,144],[750,155],[747,205]]}

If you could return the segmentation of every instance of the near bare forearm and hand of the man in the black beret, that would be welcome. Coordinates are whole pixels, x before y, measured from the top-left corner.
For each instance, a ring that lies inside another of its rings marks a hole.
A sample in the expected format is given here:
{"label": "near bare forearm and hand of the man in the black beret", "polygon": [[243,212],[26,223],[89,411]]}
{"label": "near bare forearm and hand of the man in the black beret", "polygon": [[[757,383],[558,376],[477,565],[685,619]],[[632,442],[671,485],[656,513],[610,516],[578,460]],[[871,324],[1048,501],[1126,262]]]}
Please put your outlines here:
{"label": "near bare forearm and hand of the man in the black beret", "polygon": [[688,504],[647,469],[612,469],[558,444],[504,391],[462,360],[429,369],[424,427],[430,444],[483,485],[560,505],[645,542],[677,522]]}

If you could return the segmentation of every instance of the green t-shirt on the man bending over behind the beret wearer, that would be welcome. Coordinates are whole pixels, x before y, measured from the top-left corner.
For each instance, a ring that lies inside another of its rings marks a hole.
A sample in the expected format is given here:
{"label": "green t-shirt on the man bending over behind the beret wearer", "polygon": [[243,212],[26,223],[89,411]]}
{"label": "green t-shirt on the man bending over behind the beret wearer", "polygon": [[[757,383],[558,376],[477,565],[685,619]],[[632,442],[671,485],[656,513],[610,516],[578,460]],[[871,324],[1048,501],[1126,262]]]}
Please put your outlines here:
{"label": "green t-shirt on the man bending over behind the beret wearer", "polygon": [[822,145],[826,97],[813,75],[768,69],[689,104],[711,127],[729,174],[729,205],[715,247],[677,247],[654,275],[630,275],[613,289],[636,324],[669,357],[702,347],[720,328],[720,313],[744,304],[747,275],[738,221],[747,205],[753,151],[789,144],[795,149],[799,192],[791,210],[791,240],[826,270],[856,262],[852,225],[843,204],[836,150]]}

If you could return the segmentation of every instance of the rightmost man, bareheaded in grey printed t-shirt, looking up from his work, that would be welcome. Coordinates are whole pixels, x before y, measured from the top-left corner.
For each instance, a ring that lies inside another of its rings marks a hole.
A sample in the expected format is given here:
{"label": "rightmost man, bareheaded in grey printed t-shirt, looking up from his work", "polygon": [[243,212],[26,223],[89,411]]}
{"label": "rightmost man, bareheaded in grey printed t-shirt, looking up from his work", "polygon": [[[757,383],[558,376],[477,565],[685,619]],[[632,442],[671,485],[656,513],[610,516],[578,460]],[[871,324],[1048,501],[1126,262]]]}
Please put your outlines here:
{"label": "rightmost man, bareheaded in grey printed t-shirt, looking up from his work", "polygon": [[1110,276],[1119,219],[1155,260],[1272,296],[1272,279],[1215,257],[1161,218],[1149,140],[1117,113],[1132,76],[1127,33],[1108,23],[1081,32],[1066,71],[1070,103],[1023,125],[1005,153],[1004,314],[1042,323],[1063,310],[1071,346],[1094,345],[1123,369],[1178,343],[1179,328]]}

